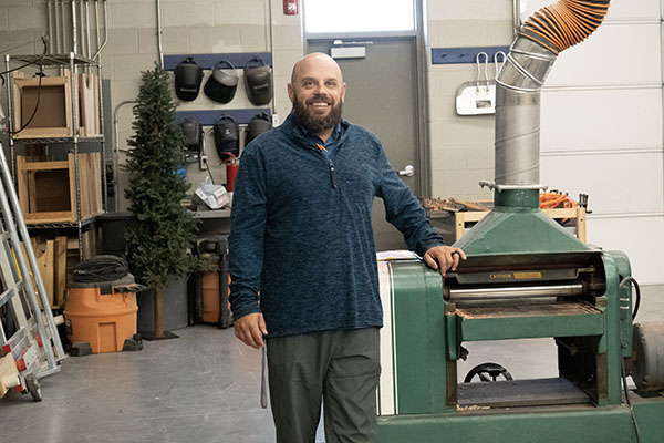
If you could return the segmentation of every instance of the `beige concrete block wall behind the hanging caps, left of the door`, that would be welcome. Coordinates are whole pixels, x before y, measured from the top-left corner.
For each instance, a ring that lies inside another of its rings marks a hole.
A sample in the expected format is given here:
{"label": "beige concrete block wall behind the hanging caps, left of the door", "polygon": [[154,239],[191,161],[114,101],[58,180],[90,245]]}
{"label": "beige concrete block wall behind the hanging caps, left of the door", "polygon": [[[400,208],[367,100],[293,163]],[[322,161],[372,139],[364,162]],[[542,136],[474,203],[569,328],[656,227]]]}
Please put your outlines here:
{"label": "beige concrete block wall behind the hanging caps, left of the door", "polygon": [[[112,110],[122,102],[136,100],[141,71],[153,69],[158,62],[156,4],[156,1],[147,0],[107,1],[108,42],[102,52],[102,75],[111,80]],[[40,53],[39,39],[46,33],[46,17],[44,0],[0,0],[0,54]],[[269,0],[193,0],[186,3],[162,0],[162,24],[164,54],[273,50],[274,112],[280,120],[288,115],[291,106],[287,83],[292,65],[303,54],[301,14],[283,16],[281,2]],[[238,73],[241,75],[241,70]],[[204,84],[209,74],[206,71]],[[194,102],[180,103],[178,110],[255,107],[247,99],[242,81],[240,78],[236,96],[229,104],[212,102],[201,91]],[[7,101],[4,89],[1,100],[2,103]],[[123,105],[117,115],[120,148],[123,151],[120,164],[123,164],[126,140],[133,135],[132,105]],[[226,172],[219,164],[211,132],[206,137],[206,154],[215,181],[224,183]],[[206,176],[198,164],[188,165],[187,178],[194,188]],[[118,209],[124,210],[127,207],[124,199],[127,177],[121,172],[118,178]]]}

